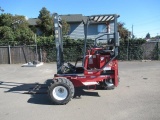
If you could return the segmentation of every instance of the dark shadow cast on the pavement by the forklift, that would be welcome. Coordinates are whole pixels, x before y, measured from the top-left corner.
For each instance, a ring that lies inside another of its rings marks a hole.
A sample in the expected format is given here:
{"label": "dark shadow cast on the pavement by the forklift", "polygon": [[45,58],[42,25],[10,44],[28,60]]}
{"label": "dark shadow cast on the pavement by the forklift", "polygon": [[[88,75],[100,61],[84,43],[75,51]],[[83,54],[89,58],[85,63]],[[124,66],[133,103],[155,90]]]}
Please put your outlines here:
{"label": "dark shadow cast on the pavement by the forklift", "polygon": [[[0,89],[4,89],[4,93],[19,93],[30,94],[31,98],[27,101],[32,104],[52,105],[48,96],[48,86],[51,84],[52,79],[48,79],[44,84],[39,83],[16,83],[16,82],[3,82],[0,81]],[[75,89],[74,98],[81,96],[94,96],[100,97],[98,92],[87,90],[87,87],[79,87]]]}

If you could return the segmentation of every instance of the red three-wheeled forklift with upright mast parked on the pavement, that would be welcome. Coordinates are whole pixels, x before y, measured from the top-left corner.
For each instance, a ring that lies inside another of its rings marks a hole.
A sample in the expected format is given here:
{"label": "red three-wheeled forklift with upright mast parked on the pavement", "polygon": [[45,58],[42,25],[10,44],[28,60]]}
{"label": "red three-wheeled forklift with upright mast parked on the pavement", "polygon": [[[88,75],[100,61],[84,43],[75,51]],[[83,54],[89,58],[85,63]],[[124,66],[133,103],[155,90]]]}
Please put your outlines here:
{"label": "red three-wheeled forklift with upright mast parked on the pavement", "polygon": [[[75,88],[82,86],[100,86],[114,89],[118,86],[118,47],[119,35],[117,14],[88,16],[84,22],[85,38],[82,65],[77,66],[63,60],[63,37],[60,16],[54,14],[57,74],[48,88],[51,101],[57,105],[67,104],[75,94]],[[105,31],[94,39],[94,45],[87,47],[89,26],[105,23]]]}

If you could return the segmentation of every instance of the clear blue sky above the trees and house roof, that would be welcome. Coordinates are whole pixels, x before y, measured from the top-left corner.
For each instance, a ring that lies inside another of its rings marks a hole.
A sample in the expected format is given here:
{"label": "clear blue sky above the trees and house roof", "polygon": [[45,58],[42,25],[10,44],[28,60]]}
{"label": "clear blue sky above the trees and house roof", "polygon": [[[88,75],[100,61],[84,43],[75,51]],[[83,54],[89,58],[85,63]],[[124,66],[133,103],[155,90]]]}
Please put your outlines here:
{"label": "clear blue sky above the trees and house roof", "polygon": [[37,18],[42,7],[60,15],[119,14],[118,21],[135,37],[160,35],[160,0],[0,0],[0,7],[3,13],[28,18]]}

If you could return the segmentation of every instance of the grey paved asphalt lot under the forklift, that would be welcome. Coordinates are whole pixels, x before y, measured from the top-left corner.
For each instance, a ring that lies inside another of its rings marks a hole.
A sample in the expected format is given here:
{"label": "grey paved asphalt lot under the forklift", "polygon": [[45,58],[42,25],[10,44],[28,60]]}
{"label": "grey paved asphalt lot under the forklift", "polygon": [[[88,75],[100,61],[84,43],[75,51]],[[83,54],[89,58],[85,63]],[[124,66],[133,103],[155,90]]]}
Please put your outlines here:
{"label": "grey paved asphalt lot under the forklift", "polygon": [[84,90],[67,105],[52,105],[43,87],[23,94],[50,81],[55,68],[0,65],[0,120],[160,120],[158,61],[119,62],[117,88]]}

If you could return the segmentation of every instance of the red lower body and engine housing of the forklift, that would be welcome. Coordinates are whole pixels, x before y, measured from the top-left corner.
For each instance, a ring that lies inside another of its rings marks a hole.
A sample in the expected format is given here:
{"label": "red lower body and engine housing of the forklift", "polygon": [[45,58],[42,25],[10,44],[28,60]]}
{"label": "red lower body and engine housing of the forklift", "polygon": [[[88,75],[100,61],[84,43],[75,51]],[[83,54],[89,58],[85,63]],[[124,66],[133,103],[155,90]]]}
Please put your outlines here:
{"label": "red lower body and engine housing of the forklift", "polygon": [[[97,50],[103,48],[92,48],[88,50],[84,61],[84,75],[79,74],[55,74],[55,77],[66,77],[75,87],[96,85],[106,79],[112,79],[114,86],[118,86],[118,61],[110,60],[110,53],[105,55],[95,54]],[[111,75],[102,75],[104,70],[114,71]]]}

